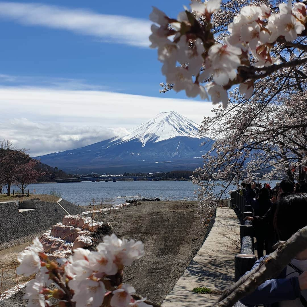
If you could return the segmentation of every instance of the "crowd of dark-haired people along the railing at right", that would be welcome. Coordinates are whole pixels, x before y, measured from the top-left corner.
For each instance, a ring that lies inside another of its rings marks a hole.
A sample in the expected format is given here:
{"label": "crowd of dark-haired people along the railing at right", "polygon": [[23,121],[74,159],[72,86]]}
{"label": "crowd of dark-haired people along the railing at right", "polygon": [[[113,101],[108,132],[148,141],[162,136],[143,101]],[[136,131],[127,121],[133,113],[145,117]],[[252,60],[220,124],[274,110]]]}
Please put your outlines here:
{"label": "crowd of dark-haired people along the railing at right", "polygon": [[[255,230],[259,260],[273,251],[278,240],[289,239],[307,226],[307,185],[286,179],[272,189],[269,184],[242,183],[240,194],[253,208],[251,220]],[[265,253],[264,253],[265,249]],[[248,272],[247,272],[248,273]],[[276,278],[267,280],[241,302],[246,306],[307,307],[307,246]]]}

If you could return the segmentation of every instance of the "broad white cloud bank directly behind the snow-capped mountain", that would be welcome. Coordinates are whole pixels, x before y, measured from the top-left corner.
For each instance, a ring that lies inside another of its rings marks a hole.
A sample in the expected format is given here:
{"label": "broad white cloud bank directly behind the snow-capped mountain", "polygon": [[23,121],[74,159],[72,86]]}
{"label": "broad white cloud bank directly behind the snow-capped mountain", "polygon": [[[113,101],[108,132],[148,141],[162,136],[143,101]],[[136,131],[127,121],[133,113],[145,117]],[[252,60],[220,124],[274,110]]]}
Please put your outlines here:
{"label": "broad white cloud bank directly behind the snow-capped mountain", "polygon": [[[166,94],[167,95],[167,94]],[[100,142],[160,112],[177,111],[200,124],[212,103],[50,88],[0,88],[0,138],[9,138],[32,156]]]}

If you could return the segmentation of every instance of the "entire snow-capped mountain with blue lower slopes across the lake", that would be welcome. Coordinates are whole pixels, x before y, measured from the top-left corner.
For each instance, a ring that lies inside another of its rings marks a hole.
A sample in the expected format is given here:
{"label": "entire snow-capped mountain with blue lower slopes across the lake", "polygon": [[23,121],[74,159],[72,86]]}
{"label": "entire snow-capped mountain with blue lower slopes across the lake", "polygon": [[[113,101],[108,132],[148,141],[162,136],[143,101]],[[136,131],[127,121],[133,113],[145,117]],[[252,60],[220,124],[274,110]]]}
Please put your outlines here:
{"label": "entire snow-capped mountain with blue lower slopes across the lake", "polygon": [[177,112],[163,112],[124,137],[36,157],[69,173],[193,170],[210,148],[201,146],[199,125]]}

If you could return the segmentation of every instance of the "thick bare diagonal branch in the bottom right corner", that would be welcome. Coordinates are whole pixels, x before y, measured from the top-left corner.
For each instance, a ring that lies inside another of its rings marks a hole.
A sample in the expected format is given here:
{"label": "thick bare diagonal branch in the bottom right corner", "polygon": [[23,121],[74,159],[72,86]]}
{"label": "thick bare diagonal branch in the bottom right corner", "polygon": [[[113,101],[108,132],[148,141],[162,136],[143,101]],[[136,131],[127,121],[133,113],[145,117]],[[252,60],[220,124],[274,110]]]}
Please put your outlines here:
{"label": "thick bare diagonal branch in the bottom right corner", "polygon": [[258,267],[240,278],[225,290],[212,305],[231,307],[239,299],[252,293],[264,281],[278,276],[295,256],[307,247],[307,226],[297,231],[290,239],[281,242],[277,250],[262,260]]}

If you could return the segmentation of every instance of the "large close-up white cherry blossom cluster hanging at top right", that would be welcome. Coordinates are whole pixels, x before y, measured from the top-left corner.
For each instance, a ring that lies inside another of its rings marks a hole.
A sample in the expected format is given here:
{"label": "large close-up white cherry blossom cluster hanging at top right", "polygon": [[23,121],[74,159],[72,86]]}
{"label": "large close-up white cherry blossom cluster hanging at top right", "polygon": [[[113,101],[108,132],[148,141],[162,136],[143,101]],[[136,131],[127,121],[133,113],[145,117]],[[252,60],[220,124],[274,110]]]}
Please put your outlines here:
{"label": "large close-up white cherry blossom cluster hanging at top right", "polygon": [[[213,77],[214,83],[205,87],[208,92],[210,90],[212,101],[223,101],[225,106],[227,99],[224,88],[245,83],[249,75],[254,80],[266,76],[258,73],[259,70],[253,70],[253,67],[263,68],[263,72],[268,73],[281,69],[282,66],[271,70],[267,67],[280,64],[282,52],[290,53],[290,49],[279,45],[283,38],[292,42],[304,33],[306,6],[301,2],[292,6],[292,2],[288,1],[280,3],[279,12],[275,13],[276,8],[271,11],[275,3],[270,1],[257,5],[245,5],[243,0],[236,4],[227,2],[227,5],[223,3],[221,10],[220,5],[220,1],[192,0],[190,7],[195,16],[194,21],[190,20],[192,17],[188,18],[188,9],[185,8],[186,11],[181,12],[177,20],[168,19],[172,29],[167,31],[172,31],[171,34],[167,33],[165,25],[160,29],[155,26],[151,41],[152,47],[158,49],[158,59],[163,63],[162,73],[167,81],[165,84],[171,84],[171,89],[177,92],[185,90],[189,97],[200,95],[206,98],[204,87],[198,85],[212,81]],[[228,12],[229,8],[231,12]],[[161,11],[157,15],[165,16]],[[155,20],[157,22],[157,18]],[[228,21],[232,22],[227,23]],[[193,23],[198,25],[191,27]],[[227,35],[226,26],[230,35]],[[297,45],[297,50],[304,50],[304,44],[294,42],[289,45],[294,49]],[[292,61],[298,54],[295,51],[286,60]],[[181,67],[177,67],[178,62]],[[295,65],[293,61],[293,66]],[[251,69],[238,70],[240,66]],[[221,86],[224,88],[219,90]],[[240,87],[242,91],[244,87],[245,85]],[[168,90],[169,88],[165,88],[161,92]],[[217,97],[214,97],[215,92]],[[244,90],[244,95],[249,97],[250,92],[249,87],[248,91]]]}

